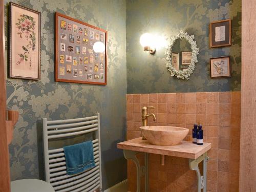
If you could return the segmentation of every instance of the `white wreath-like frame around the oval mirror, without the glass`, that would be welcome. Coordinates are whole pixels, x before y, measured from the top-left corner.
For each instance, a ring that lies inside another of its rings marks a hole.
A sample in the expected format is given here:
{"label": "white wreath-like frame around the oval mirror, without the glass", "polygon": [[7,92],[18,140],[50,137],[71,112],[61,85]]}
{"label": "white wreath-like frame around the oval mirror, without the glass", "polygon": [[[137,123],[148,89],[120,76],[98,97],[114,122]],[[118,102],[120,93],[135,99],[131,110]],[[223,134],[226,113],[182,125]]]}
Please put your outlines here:
{"label": "white wreath-like frame around the oval mirror, without the glass", "polygon": [[[177,39],[185,38],[189,44],[191,45],[192,49],[192,55],[191,55],[191,62],[188,66],[188,70],[182,71],[182,70],[176,70],[173,65],[172,65],[172,48]],[[170,72],[170,76],[176,76],[178,79],[189,79],[190,74],[193,73],[195,70],[196,66],[195,63],[198,62],[197,60],[197,55],[199,53],[199,49],[197,48],[197,41],[194,40],[195,36],[194,35],[188,35],[184,31],[179,31],[175,36],[170,37],[170,43],[167,48],[167,51],[165,53],[166,56],[166,67],[167,70]]]}

